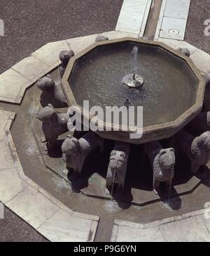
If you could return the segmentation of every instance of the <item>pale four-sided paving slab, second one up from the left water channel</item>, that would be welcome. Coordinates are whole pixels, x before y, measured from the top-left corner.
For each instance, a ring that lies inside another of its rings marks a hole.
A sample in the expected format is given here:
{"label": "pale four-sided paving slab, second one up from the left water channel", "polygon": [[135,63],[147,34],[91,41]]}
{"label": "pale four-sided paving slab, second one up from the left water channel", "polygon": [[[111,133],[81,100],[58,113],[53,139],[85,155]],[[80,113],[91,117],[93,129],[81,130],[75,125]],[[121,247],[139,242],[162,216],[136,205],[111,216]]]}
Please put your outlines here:
{"label": "pale four-sided paving slab, second one up from the left water channel", "polygon": [[29,56],[12,67],[13,70],[24,75],[29,80],[34,79],[34,77],[37,77],[37,75],[43,75],[47,68],[48,65],[38,60],[34,56]]}

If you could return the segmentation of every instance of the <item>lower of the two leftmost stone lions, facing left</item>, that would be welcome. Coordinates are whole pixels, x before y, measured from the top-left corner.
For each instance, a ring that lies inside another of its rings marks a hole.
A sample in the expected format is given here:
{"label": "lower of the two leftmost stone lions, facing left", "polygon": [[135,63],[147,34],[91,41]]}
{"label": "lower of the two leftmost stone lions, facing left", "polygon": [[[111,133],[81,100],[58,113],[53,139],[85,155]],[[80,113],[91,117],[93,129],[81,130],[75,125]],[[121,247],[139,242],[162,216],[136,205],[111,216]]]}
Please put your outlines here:
{"label": "lower of the two leftmost stone lions, facing left", "polygon": [[47,141],[46,150],[53,148],[59,135],[68,132],[67,122],[69,115],[57,113],[52,104],[48,104],[37,115],[38,120],[42,122],[42,131]]}

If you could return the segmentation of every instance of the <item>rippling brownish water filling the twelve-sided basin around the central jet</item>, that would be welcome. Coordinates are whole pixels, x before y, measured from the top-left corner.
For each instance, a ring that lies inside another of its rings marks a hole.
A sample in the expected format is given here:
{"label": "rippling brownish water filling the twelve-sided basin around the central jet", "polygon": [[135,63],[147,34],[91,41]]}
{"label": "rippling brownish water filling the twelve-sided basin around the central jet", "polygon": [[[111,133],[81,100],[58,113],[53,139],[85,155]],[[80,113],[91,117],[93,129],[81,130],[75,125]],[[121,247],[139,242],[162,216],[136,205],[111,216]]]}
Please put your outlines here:
{"label": "rippling brownish water filling the twelve-sided basin around the central jet", "polygon": [[[144,85],[130,88],[123,77],[130,72],[130,54],[137,46],[137,69]],[[90,107],[130,105],[144,107],[144,127],[176,120],[195,103],[197,78],[187,63],[162,49],[144,43],[123,42],[98,46],[76,61],[69,86],[79,105]]]}

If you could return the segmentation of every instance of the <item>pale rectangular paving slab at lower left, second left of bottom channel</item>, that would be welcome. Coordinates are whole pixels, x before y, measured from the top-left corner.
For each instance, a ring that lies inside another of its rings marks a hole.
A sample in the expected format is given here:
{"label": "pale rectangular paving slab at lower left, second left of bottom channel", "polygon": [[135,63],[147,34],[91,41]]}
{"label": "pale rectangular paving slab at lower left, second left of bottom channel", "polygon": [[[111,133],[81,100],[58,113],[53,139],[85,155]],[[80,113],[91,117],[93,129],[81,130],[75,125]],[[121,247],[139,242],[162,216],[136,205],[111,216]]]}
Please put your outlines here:
{"label": "pale rectangular paving slab at lower left, second left of bottom channel", "polygon": [[55,203],[52,203],[51,200],[45,198],[31,186],[25,188],[18,196],[10,200],[6,206],[35,229],[59,210]]}

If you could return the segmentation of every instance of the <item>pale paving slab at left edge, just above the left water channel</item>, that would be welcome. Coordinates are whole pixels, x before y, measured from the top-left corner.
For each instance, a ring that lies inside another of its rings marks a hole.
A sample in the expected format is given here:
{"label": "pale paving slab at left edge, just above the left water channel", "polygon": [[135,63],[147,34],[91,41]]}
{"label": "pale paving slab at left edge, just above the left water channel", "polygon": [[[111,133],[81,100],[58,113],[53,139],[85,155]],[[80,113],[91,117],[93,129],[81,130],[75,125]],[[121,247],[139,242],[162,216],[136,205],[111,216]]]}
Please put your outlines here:
{"label": "pale paving slab at left edge, just above the left water channel", "polygon": [[29,79],[15,70],[7,70],[0,75],[0,101],[20,103],[20,91],[29,82]]}

